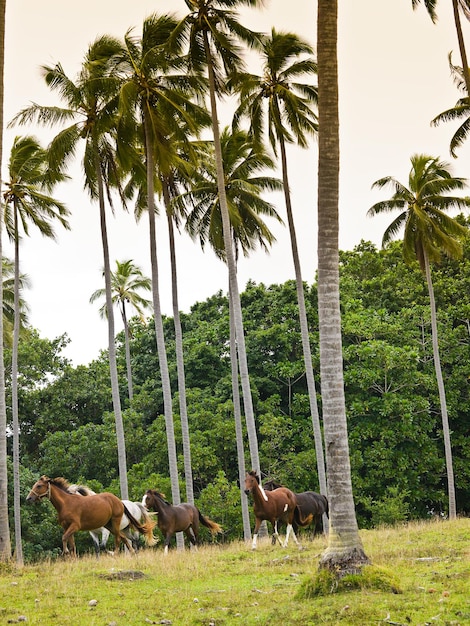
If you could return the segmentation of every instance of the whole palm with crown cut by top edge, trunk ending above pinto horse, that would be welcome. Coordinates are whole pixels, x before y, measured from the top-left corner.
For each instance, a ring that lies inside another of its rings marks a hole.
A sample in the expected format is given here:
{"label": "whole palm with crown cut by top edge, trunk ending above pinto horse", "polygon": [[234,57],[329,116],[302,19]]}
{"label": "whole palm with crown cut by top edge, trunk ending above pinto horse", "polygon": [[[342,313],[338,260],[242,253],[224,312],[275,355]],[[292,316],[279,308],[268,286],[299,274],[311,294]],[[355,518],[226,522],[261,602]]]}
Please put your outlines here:
{"label": "whole palm with crown cut by top edge, trunk ending above pinto horse", "polygon": [[185,0],[189,13],[173,33],[173,39],[187,38],[189,41],[190,69],[203,73],[207,69],[209,80],[209,100],[212,118],[217,186],[222,216],[222,231],[226,255],[229,292],[233,298],[233,315],[236,331],[237,350],[245,419],[247,423],[250,457],[253,469],[260,473],[258,439],[251,396],[248,364],[246,357],[243,315],[238,289],[236,261],[232,246],[230,215],[225,191],[225,175],[222,160],[220,129],[217,115],[217,95],[224,92],[224,79],[227,74],[243,70],[240,48],[236,38],[255,46],[259,35],[240,24],[234,9],[239,6],[257,7],[262,0]]}

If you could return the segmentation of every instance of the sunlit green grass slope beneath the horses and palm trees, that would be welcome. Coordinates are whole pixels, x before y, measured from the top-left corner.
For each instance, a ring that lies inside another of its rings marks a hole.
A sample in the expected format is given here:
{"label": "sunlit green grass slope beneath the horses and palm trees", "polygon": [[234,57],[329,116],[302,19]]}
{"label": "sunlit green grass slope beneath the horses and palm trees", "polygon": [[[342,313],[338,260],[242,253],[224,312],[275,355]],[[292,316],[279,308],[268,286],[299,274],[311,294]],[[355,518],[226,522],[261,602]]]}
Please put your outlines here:
{"label": "sunlit green grass slope beneath the horses and palm trees", "polygon": [[[326,543],[0,565],[0,624],[69,626],[470,625],[470,519],[361,531],[362,579],[305,599]],[[392,584],[389,585],[389,582]],[[392,589],[394,591],[392,591]],[[90,604],[95,600],[96,603]]]}

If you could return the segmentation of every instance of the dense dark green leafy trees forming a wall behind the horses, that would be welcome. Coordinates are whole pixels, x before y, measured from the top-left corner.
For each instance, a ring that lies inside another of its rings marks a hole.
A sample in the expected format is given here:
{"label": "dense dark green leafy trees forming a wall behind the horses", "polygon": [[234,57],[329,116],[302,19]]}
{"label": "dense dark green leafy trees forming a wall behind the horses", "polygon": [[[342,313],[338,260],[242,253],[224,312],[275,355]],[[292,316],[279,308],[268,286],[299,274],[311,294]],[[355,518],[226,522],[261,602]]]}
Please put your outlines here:
{"label": "dense dark green leafy trees forming a wall behind the horses", "polygon": [[[401,243],[385,250],[362,242],[340,255],[345,390],[351,469],[361,527],[445,515],[446,470],[432,362],[430,313],[419,267],[402,260]],[[470,243],[461,261],[433,268],[441,364],[448,397],[457,508],[470,510]],[[305,286],[313,367],[318,376],[316,287]],[[248,283],[241,294],[261,468],[294,491],[318,490],[297,299],[293,281]],[[196,503],[222,524],[225,539],[242,537],[235,426],[231,403],[227,298],[214,294],[181,316]],[[154,328],[132,326],[134,398],[118,337],[129,493],[170,493],[163,398]],[[174,326],[165,319],[172,388]],[[106,354],[72,368],[60,353],[66,338],[22,340],[20,422],[22,485],[39,474],[65,476],[119,492],[117,445]],[[8,359],[8,355],[6,355]],[[319,386],[321,380],[319,380]],[[321,397],[319,393],[320,413]],[[174,397],[180,474],[183,458]],[[247,455],[247,459],[248,459]],[[184,482],[181,481],[184,499]],[[52,506],[23,507],[25,554],[59,546]],[[41,531],[38,532],[38,526]],[[45,533],[44,529],[50,529]],[[82,534],[83,544],[90,541]]]}

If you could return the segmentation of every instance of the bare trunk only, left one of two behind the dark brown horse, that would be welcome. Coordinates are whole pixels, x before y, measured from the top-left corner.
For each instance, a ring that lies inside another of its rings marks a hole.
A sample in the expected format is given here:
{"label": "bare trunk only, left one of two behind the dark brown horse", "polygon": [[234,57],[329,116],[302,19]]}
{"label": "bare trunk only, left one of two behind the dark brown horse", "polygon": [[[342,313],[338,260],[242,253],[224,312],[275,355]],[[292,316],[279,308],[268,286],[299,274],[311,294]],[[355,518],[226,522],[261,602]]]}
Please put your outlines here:
{"label": "bare trunk only, left one of two behind the dark brown horse", "polygon": [[[173,424],[173,407],[171,398],[170,373],[166,356],[165,337],[163,333],[163,318],[160,305],[160,288],[158,279],[157,238],[155,227],[155,190],[154,176],[155,166],[152,151],[152,138],[150,134],[149,120],[144,114],[145,151],[147,159],[147,201],[150,235],[150,262],[152,268],[152,300],[155,320],[155,335],[157,343],[158,362],[163,391],[163,410],[165,414],[166,440],[168,447],[168,466],[171,480],[171,495],[173,504],[180,504],[180,487],[178,479],[178,463],[176,457],[175,431]],[[182,533],[177,534],[178,547],[184,546]]]}

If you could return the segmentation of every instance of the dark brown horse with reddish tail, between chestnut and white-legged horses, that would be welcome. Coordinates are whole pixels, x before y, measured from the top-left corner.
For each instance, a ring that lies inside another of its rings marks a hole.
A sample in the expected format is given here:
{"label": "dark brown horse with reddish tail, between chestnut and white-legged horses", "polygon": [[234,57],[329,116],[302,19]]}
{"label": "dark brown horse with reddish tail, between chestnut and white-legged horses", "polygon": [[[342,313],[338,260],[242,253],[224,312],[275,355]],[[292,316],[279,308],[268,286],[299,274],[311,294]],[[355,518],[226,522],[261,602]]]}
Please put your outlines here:
{"label": "dark brown horse with reddish tail, between chestnut and white-legged horses", "polygon": [[165,500],[165,495],[154,489],[148,489],[142,498],[142,504],[146,509],[154,510],[158,514],[158,528],[164,536],[164,553],[168,554],[171,538],[175,533],[184,532],[190,544],[197,547],[199,537],[199,524],[208,528],[212,535],[222,532],[222,528],[216,522],[200,512],[200,510],[183,502],[182,504],[170,504]]}

